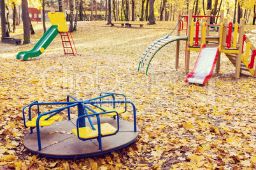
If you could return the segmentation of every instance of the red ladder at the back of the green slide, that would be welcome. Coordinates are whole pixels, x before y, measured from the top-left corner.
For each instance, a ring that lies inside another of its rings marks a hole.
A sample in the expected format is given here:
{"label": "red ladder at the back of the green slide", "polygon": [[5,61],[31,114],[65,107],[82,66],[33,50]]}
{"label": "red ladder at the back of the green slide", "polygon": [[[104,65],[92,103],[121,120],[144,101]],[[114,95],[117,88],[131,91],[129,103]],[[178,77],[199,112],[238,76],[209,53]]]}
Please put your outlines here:
{"label": "red ladder at the back of the green slide", "polygon": [[[74,55],[75,56],[77,51],[76,51],[76,46],[73,41],[71,32],[70,31],[60,32],[60,37],[61,37],[65,55]],[[72,43],[71,43],[71,41],[72,41]]]}

